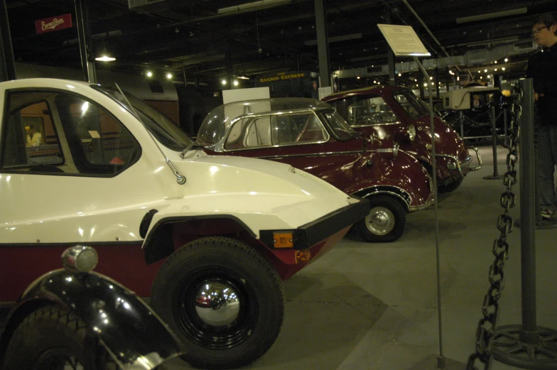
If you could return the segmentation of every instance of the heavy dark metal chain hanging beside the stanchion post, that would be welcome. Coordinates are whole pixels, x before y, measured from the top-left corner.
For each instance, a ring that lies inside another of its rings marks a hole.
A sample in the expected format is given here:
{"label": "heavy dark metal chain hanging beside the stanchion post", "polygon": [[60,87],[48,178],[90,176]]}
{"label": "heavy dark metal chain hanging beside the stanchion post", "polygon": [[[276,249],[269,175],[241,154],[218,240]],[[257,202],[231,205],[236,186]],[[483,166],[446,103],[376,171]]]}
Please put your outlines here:
{"label": "heavy dark metal chain hanging beside the stanchion post", "polygon": [[475,365],[477,361],[484,364],[484,369],[489,369],[491,354],[489,350],[490,339],[497,325],[499,315],[499,298],[504,288],[504,264],[509,259],[509,244],[507,235],[512,232],[513,219],[509,210],[515,205],[515,195],[512,192],[512,185],[517,183],[516,164],[518,160],[518,121],[521,116],[519,104],[520,92],[518,86],[514,87],[512,94],[509,129],[509,153],[507,154],[507,172],[504,174],[503,183],[507,189],[502,193],[499,204],[503,207],[503,213],[497,218],[497,230],[499,238],[493,241],[492,251],[495,256],[493,264],[490,266],[488,280],[490,288],[482,303],[482,318],[477,324],[476,330],[476,349],[468,357],[466,369],[478,369]]}

